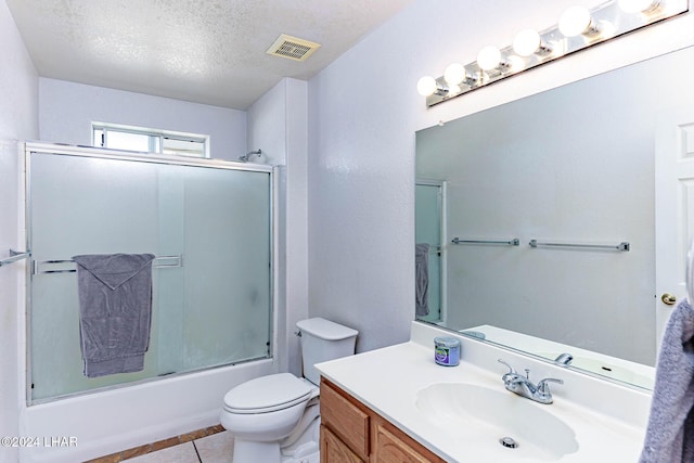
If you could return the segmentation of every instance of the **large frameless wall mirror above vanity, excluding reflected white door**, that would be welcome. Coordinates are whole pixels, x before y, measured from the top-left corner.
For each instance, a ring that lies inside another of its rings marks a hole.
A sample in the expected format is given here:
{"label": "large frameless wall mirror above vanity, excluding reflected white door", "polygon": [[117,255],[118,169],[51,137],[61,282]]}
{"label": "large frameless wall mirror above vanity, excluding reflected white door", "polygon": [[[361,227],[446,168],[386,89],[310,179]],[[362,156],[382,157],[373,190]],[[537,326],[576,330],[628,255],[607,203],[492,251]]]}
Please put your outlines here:
{"label": "large frameless wall mirror above vanity, excluding reflected white door", "polygon": [[417,320],[652,387],[655,132],[693,72],[687,48],[419,131]]}

